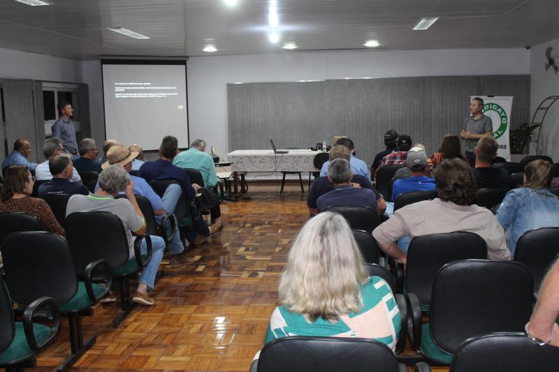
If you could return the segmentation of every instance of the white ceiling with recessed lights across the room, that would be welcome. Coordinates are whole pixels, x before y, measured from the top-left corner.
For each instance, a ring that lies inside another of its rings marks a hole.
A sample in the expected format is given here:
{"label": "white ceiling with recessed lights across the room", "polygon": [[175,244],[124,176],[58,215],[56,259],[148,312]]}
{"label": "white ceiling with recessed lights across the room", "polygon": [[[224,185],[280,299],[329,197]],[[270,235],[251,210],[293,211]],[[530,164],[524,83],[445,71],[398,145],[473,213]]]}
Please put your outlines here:
{"label": "white ceiling with recessed lights across the room", "polygon": [[[273,0],[271,0],[273,1]],[[360,49],[524,47],[559,36],[559,0],[277,0],[277,44],[268,41],[270,0],[52,0],[52,6],[0,1],[0,47],[71,59],[114,56]],[[441,17],[412,31],[421,17]],[[125,27],[150,39],[108,31]],[[296,52],[294,51],[294,52]],[[0,61],[1,64],[1,61]]]}

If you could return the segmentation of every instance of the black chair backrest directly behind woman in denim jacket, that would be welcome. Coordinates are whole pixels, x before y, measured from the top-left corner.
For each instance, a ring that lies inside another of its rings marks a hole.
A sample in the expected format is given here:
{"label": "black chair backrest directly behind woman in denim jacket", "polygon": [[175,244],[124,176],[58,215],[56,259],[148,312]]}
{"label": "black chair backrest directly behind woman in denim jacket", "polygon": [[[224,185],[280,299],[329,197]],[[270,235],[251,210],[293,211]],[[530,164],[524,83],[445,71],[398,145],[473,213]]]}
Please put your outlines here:
{"label": "black chair backrest directly behind woman in denim jacket", "polygon": [[514,260],[522,262],[532,272],[537,291],[558,255],[559,228],[536,228],[528,230],[516,241]]}

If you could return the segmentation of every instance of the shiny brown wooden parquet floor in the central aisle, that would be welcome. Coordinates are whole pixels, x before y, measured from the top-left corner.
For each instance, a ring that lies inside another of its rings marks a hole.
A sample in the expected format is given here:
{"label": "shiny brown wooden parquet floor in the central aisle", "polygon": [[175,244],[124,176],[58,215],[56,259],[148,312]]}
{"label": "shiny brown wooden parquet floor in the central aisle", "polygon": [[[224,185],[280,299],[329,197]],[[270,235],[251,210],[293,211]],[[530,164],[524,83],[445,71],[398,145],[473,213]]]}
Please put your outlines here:
{"label": "shiny brown wooden parquet floor in the central aisle", "polygon": [[[224,229],[189,250],[194,265],[164,259],[154,306],[137,306],[117,328],[119,302],[95,306],[83,329],[96,343],[73,371],[248,371],[276,306],[289,247],[308,218],[307,195],[298,184],[286,191],[280,197],[277,185],[258,184],[249,190],[252,200],[222,204]],[[35,371],[55,370],[70,353],[66,318],[61,325]]]}

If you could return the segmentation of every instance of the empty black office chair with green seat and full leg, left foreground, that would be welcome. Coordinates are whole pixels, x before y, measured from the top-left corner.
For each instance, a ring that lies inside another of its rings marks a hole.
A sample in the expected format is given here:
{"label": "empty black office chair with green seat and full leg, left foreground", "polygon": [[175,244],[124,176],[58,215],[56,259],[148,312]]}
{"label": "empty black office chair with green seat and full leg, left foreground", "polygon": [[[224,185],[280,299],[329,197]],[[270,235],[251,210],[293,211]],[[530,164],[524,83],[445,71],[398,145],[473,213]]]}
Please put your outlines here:
{"label": "empty black office chair with green seat and full leg, left foreground", "polygon": [[[95,343],[95,336],[83,341],[83,315],[93,315],[92,306],[110,290],[110,269],[104,260],[89,262],[83,280],[72,261],[64,237],[50,232],[13,232],[2,244],[4,277],[10,297],[29,306],[38,297],[52,297],[60,313],[68,316],[71,355],[58,366],[67,371]],[[104,285],[95,280],[103,275]]]}

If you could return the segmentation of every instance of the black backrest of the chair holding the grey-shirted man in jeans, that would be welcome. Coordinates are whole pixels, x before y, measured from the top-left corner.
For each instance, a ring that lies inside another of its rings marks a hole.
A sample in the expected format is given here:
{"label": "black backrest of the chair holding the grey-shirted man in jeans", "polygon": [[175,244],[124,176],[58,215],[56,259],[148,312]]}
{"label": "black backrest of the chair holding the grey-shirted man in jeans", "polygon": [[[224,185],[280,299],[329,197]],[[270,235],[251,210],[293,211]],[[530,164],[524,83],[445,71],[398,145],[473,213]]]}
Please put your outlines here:
{"label": "black backrest of the chair holding the grey-shirted man in jeans", "polygon": [[76,212],[66,217],[66,239],[75,267],[106,260],[114,270],[128,261],[128,239],[122,221],[107,211]]}

